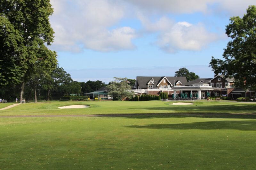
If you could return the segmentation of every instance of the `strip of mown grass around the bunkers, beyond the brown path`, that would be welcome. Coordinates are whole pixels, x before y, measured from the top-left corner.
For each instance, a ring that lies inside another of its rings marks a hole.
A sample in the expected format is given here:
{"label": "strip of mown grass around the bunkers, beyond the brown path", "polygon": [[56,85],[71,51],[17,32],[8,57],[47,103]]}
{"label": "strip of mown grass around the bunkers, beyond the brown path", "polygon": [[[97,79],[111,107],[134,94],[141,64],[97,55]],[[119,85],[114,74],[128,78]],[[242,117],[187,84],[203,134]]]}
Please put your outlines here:
{"label": "strip of mown grass around the bunkers, beyond the brown path", "polygon": [[[163,101],[73,101],[26,103],[1,110],[0,115],[92,115],[147,113],[256,113],[256,103],[195,101],[194,105],[170,105]],[[59,109],[65,105],[90,105],[90,108]]]}

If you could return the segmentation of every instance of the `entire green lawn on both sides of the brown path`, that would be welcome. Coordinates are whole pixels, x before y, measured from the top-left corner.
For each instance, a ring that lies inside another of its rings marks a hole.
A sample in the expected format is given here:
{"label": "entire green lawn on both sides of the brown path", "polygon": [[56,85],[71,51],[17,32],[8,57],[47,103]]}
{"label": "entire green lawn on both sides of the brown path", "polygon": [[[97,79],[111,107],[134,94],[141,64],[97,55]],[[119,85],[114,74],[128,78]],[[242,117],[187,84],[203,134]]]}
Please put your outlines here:
{"label": "entire green lawn on both sides of the brown path", "polygon": [[[79,103],[92,107],[57,108]],[[27,103],[0,115],[255,113],[254,103],[169,103]],[[254,169],[256,115],[0,118],[0,141],[0,169]]]}

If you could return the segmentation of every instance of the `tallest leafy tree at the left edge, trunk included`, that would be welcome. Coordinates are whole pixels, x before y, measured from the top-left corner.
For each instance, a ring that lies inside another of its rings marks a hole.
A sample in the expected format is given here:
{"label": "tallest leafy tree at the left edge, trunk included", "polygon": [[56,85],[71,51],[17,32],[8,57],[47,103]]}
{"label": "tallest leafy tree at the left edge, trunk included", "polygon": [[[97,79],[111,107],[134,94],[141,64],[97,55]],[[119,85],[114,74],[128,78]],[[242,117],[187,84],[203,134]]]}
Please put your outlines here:
{"label": "tallest leafy tree at the left edge, trunk included", "polygon": [[50,0],[0,0],[0,24],[5,30],[1,37],[8,39],[8,43],[1,42],[1,45],[11,47],[9,51],[1,52],[7,55],[0,65],[4,70],[0,78],[2,84],[20,84],[20,101],[35,62],[47,59],[38,52],[46,48],[44,43],[50,45],[53,41],[54,32],[49,22],[52,13]]}

